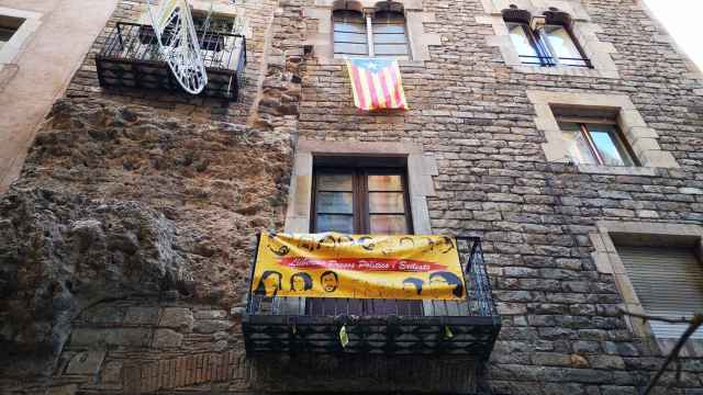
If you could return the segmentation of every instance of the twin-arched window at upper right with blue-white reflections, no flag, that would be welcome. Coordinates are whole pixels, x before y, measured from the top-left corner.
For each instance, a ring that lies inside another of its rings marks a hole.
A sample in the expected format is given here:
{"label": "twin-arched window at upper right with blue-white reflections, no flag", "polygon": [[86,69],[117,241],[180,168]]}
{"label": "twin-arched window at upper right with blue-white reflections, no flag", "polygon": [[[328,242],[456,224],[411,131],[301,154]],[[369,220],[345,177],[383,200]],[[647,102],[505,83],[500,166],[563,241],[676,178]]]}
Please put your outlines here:
{"label": "twin-arched window at upper right with blue-white reflections, no flag", "polygon": [[529,23],[521,20],[506,19],[505,23],[523,64],[591,67],[568,24],[545,23],[533,29]]}

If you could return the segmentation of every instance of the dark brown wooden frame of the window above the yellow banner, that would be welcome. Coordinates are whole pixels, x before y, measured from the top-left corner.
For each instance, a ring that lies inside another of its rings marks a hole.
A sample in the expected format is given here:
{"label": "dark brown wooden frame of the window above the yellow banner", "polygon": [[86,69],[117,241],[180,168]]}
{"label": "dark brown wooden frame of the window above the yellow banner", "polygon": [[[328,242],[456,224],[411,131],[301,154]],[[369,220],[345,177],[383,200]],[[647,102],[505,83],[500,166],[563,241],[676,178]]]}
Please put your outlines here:
{"label": "dark brown wooden frame of the window above the yellow banner", "polygon": [[[410,193],[408,183],[408,170],[403,167],[364,167],[364,166],[313,166],[312,177],[312,201],[310,204],[310,229],[313,233],[317,232],[317,176],[320,173],[352,173],[352,214],[354,234],[369,234],[370,233],[370,213],[369,213],[369,192],[368,191],[368,177],[369,176],[400,176],[402,183],[403,204],[404,204],[404,217],[405,217],[405,234],[412,235],[413,221],[412,211],[410,207]],[[324,214],[324,213],[323,213]],[[376,215],[383,215],[382,213],[375,213]],[[344,214],[342,214],[344,215]],[[400,215],[400,214],[393,214]]]}

